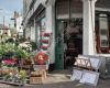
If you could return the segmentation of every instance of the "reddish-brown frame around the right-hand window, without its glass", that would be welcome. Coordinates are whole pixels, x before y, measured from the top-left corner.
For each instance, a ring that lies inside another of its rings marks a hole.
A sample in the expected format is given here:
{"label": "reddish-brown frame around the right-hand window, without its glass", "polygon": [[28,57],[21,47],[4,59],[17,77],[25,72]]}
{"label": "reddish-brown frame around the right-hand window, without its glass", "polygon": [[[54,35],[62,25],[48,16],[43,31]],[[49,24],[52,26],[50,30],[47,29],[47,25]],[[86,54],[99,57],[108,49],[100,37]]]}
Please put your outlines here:
{"label": "reddish-brown frame around the right-hand window, without its glass", "polygon": [[[101,46],[101,40],[100,40],[100,24],[99,24],[99,19],[100,18],[106,18],[106,16],[99,16],[100,14],[107,14],[107,19],[108,19],[108,41],[109,41],[109,46],[108,47],[102,47]],[[110,53],[110,12],[101,12],[101,11],[97,11],[96,12],[96,48],[97,48],[97,53]]]}

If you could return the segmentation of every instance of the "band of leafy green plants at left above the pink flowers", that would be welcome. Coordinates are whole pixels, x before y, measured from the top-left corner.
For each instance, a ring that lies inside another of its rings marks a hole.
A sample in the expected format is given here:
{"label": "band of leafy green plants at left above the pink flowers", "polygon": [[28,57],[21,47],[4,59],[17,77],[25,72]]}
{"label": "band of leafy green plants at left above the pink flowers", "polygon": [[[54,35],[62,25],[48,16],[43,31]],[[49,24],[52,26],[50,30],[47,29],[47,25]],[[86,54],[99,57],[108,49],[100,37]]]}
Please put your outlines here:
{"label": "band of leafy green plants at left above the pink flowers", "polygon": [[0,44],[0,56],[1,57],[10,53],[15,53],[15,56],[18,58],[30,58],[31,56],[29,52],[18,47],[15,44],[12,44],[12,43]]}

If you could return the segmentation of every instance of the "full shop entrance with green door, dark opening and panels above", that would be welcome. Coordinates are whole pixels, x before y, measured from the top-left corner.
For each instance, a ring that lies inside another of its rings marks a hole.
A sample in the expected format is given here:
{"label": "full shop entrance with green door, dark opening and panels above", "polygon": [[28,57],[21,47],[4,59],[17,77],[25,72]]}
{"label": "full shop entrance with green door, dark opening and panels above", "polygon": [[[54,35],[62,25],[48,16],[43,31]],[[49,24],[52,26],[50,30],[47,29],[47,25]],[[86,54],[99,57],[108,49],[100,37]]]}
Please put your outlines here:
{"label": "full shop entrance with green door, dark opening and panels above", "polygon": [[56,0],[55,19],[55,66],[63,69],[82,53],[82,1]]}

